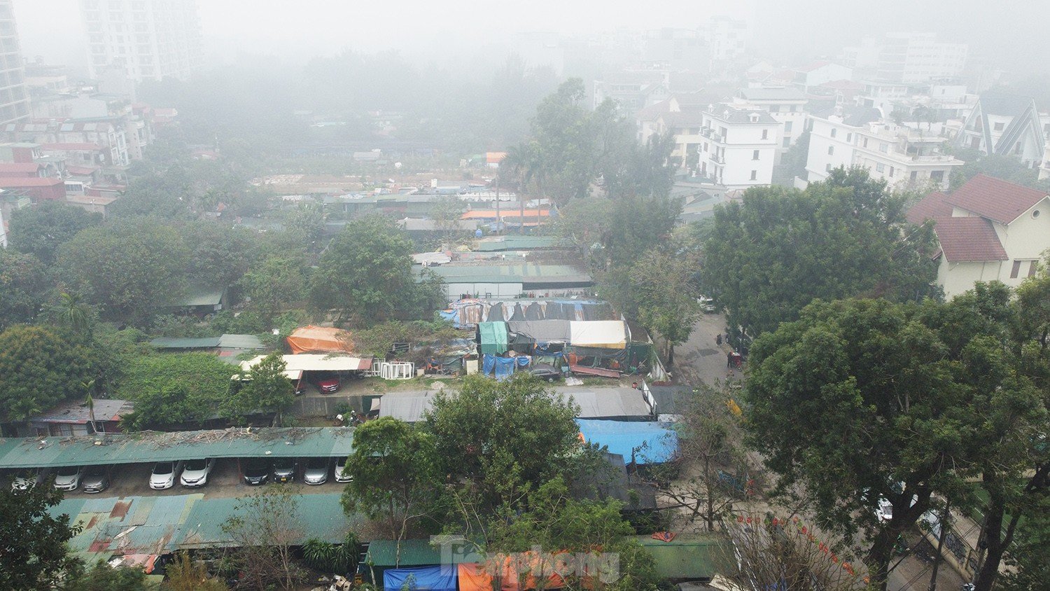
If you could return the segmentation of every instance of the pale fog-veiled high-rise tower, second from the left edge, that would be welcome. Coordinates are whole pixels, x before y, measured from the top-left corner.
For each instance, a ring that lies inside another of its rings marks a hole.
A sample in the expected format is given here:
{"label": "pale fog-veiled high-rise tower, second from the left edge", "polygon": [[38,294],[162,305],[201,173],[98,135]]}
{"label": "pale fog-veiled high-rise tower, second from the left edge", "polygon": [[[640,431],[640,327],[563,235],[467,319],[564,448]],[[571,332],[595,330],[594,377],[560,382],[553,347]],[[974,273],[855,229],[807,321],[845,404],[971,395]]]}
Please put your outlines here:
{"label": "pale fog-veiled high-rise tower, second from the left edge", "polygon": [[202,63],[195,0],[81,0],[92,78],[186,79]]}

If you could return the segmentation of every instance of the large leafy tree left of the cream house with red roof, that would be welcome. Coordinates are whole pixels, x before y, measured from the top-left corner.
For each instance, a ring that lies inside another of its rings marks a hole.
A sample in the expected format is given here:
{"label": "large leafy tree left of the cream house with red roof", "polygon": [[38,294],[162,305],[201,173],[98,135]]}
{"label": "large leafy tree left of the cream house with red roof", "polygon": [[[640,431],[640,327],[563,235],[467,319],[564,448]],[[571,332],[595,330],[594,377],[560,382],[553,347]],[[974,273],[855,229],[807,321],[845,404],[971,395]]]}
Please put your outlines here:
{"label": "large leafy tree left of the cream house with red roof", "polygon": [[934,239],[908,227],[905,200],[867,172],[838,169],[805,191],[750,189],[716,208],[701,288],[730,326],[756,336],[814,299],[936,295]]}

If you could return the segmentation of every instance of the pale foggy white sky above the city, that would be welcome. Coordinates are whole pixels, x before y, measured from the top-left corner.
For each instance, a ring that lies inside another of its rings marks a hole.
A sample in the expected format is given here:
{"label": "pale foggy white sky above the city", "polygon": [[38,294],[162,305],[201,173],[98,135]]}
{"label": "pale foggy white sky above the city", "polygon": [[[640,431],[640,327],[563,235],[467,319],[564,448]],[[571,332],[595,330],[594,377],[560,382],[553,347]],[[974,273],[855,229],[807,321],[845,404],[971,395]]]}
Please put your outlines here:
{"label": "pale foggy white sky above the city", "polygon": [[[934,31],[1001,67],[1050,72],[1050,0],[197,0],[206,55],[297,63],[344,49],[410,57],[484,50],[513,31],[588,35],[695,27],[711,15],[752,22],[752,46],[785,60],[837,55],[864,35]],[[26,57],[86,62],[78,0],[15,0]]]}

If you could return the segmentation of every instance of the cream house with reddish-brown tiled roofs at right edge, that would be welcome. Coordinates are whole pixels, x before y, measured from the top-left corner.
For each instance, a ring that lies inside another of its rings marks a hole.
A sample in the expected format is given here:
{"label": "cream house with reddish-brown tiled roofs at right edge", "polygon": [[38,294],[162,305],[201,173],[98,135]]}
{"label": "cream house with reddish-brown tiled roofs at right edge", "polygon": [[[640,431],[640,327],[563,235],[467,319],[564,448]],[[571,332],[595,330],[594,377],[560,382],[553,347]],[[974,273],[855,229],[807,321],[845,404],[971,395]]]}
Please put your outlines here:
{"label": "cream house with reddish-brown tiled roofs at right edge", "polygon": [[976,281],[1016,287],[1050,249],[1050,195],[983,174],[951,194],[930,193],[908,211],[908,220],[934,224],[937,281],[947,297]]}

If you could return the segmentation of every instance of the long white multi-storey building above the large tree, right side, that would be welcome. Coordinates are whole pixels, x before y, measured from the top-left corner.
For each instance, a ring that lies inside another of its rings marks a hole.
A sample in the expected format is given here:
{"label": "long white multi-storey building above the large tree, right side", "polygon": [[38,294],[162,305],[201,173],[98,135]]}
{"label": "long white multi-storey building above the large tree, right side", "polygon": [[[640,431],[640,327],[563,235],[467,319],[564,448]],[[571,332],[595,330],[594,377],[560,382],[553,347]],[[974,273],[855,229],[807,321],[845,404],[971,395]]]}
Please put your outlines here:
{"label": "long white multi-storey building above the large tree, right side", "polygon": [[855,107],[814,117],[806,180],[823,181],[839,167],[860,166],[892,188],[948,187],[951,170],[964,163],[941,152],[937,132],[897,125],[876,109]]}

